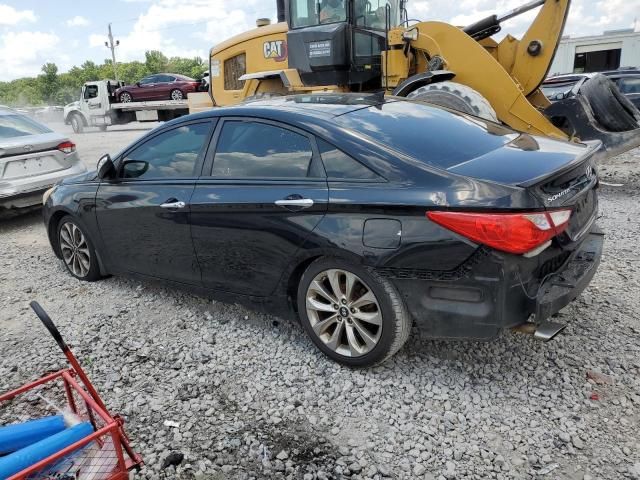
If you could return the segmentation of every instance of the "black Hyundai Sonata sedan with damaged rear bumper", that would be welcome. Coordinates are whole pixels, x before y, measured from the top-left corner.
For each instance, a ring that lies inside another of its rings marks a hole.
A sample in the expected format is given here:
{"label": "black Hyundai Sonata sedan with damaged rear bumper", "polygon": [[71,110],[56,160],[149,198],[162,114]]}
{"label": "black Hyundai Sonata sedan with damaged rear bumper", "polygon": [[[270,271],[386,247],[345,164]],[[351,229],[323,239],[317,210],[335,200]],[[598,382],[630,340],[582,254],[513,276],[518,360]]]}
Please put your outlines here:
{"label": "black Hyundai Sonata sedan with damaged rear bumper", "polygon": [[298,317],[332,359],[393,355],[415,322],[490,339],[587,286],[599,144],[419,102],[299,95],[183,117],[46,195],[82,280],[129,274]]}

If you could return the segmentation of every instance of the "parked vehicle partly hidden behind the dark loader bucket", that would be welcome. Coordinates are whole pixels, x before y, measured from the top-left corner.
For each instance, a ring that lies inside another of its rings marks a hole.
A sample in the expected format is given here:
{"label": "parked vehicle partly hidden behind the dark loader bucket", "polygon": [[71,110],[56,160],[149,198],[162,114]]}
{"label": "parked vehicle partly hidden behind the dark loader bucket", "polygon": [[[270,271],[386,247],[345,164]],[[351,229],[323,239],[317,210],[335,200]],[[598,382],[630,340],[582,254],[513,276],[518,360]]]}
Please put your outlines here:
{"label": "parked vehicle partly hidden behind the dark loader bucket", "polygon": [[[618,90],[625,95],[636,108],[640,108],[640,70],[621,69],[600,74],[612,80]],[[552,102],[564,100],[575,96],[580,92],[580,87],[595,73],[568,73],[547,78],[542,84],[542,91]]]}

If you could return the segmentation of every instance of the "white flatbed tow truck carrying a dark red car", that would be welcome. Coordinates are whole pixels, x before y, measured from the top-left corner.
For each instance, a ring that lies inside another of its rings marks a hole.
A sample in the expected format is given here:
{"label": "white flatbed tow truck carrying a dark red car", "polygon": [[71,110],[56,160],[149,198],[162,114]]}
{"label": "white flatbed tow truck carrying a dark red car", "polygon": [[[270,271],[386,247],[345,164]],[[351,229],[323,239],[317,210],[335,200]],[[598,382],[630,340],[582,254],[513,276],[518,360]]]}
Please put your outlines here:
{"label": "white flatbed tow truck carrying a dark red car", "polygon": [[80,100],[64,107],[64,123],[82,133],[85,127],[105,131],[109,125],[168,121],[189,114],[187,100],[118,103],[115,91],[121,86],[115,80],[86,82]]}

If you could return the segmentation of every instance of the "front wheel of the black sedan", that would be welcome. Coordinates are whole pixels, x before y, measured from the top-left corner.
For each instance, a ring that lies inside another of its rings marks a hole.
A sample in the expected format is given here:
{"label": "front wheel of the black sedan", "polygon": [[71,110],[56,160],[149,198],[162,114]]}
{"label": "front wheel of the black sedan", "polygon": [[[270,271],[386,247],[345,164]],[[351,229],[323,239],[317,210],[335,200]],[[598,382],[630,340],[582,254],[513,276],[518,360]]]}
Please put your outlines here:
{"label": "front wheel of the black sedan", "polygon": [[93,242],[71,216],[66,215],[56,229],[58,248],[67,271],[79,280],[94,282],[101,278]]}

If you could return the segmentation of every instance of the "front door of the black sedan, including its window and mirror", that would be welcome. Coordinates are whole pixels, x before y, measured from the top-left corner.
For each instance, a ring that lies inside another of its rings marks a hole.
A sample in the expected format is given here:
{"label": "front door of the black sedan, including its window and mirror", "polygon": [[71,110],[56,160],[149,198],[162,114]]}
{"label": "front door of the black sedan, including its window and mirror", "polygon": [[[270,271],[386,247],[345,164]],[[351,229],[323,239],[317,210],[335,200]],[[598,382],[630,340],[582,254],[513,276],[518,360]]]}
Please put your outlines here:
{"label": "front door of the black sedan, including its window and mirror", "polygon": [[142,140],[100,184],[96,218],[113,270],[200,285],[189,202],[212,127],[185,122]]}

